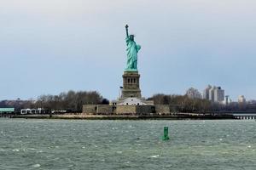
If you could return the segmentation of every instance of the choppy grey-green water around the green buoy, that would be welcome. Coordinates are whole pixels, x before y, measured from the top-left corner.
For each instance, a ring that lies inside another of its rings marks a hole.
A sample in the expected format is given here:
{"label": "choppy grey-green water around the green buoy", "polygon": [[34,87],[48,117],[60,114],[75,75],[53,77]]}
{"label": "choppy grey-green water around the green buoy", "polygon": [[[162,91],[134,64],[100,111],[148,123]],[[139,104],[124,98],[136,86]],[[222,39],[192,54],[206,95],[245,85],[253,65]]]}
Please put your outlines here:
{"label": "choppy grey-green water around the green buoy", "polygon": [[[162,141],[163,127],[171,139]],[[254,121],[0,119],[0,169],[256,169]]]}

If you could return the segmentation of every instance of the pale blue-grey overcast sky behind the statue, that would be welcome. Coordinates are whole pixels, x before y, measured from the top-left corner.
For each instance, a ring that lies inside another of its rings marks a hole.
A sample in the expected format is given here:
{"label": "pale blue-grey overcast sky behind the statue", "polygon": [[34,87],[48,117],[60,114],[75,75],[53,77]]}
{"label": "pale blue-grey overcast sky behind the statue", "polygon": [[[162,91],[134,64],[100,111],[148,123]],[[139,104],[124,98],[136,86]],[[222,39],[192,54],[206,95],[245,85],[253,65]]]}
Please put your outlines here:
{"label": "pale blue-grey overcast sky behind the statue", "polygon": [[0,0],[0,99],[116,99],[126,23],[142,46],[143,96],[212,84],[256,99],[255,19],[255,0]]}

